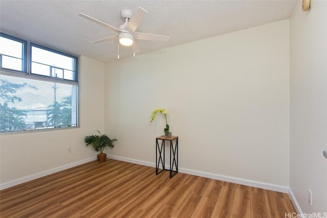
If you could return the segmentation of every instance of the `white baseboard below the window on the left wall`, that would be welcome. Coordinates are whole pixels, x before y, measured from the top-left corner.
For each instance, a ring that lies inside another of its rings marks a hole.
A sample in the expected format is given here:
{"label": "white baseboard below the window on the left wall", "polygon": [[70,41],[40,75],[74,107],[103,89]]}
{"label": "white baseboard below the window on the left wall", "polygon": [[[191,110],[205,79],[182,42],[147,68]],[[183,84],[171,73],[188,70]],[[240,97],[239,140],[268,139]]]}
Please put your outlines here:
{"label": "white baseboard below the window on the left wall", "polygon": [[0,184],[0,190],[9,188],[9,187],[12,187],[12,186],[15,186],[15,185],[19,185],[21,183],[28,182],[28,181],[31,181],[31,180],[34,180],[34,179],[38,179],[38,178],[41,178],[43,176],[48,176],[50,174],[54,174],[54,173],[63,171],[64,169],[72,168],[74,166],[78,166],[78,165],[81,165],[83,163],[87,163],[87,162],[90,162],[90,161],[96,160],[96,159],[97,159],[97,157],[90,157],[90,158],[87,158],[87,159],[84,159],[84,160],[76,161],[74,163],[68,163],[68,164],[63,165],[63,166],[59,166],[59,167],[56,167],[56,168],[53,168],[53,169],[49,169],[48,171],[43,171],[43,172],[40,172],[40,173],[32,174],[30,176],[26,176],[26,177],[15,179],[15,180],[12,180],[12,181],[9,181],[9,182],[5,182],[5,183]]}

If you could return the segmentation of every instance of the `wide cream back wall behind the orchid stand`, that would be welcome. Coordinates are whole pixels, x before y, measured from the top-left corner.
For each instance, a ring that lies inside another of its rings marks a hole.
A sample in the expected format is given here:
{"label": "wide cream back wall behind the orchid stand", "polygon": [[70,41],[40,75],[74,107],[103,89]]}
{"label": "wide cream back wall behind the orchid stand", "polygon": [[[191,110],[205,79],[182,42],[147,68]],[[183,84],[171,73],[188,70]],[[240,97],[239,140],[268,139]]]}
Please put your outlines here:
{"label": "wide cream back wall behind the orchid stand", "polygon": [[179,167],[288,186],[289,20],[106,64],[111,154],[155,162],[157,107]]}

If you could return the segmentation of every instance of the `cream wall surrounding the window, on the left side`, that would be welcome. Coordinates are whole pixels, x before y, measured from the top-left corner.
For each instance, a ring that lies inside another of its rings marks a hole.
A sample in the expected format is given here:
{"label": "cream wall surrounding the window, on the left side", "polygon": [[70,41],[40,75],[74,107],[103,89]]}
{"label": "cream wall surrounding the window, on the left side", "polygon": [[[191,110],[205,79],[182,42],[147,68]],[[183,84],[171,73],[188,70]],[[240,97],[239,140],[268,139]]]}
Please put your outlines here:
{"label": "cream wall surrounding the window, on the left side", "polygon": [[104,64],[82,56],[79,80],[80,128],[1,135],[2,185],[96,157],[97,152],[85,147],[84,136],[104,132]]}

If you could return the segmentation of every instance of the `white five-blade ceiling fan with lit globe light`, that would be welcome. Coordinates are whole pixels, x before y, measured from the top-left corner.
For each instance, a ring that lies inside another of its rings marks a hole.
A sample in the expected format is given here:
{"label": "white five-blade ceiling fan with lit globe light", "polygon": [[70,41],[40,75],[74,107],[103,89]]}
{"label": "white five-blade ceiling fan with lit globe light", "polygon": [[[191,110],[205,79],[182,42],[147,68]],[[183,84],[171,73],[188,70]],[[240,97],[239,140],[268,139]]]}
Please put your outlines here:
{"label": "white five-blade ceiling fan with lit globe light", "polygon": [[[134,43],[134,39],[168,41],[169,36],[161,36],[161,35],[155,35],[155,34],[149,34],[149,33],[135,32],[135,30],[137,29],[139,24],[143,21],[145,15],[147,13],[148,12],[141,7],[138,7],[134,14],[131,10],[128,10],[128,9],[121,10],[121,17],[125,22],[119,28],[115,28],[111,25],[108,25],[105,22],[97,20],[97,19],[90,17],[83,13],[79,13],[78,15],[83,18],[86,18],[92,22],[98,23],[99,25],[118,33],[118,35],[100,39],[100,40],[94,41],[92,43],[100,43],[100,42],[105,42],[105,41],[113,40],[113,39],[117,39],[117,38],[119,39],[119,43],[122,45],[125,45],[125,46],[132,45]],[[135,56],[135,53],[134,53],[134,56]],[[118,55],[118,58],[119,58],[119,55]]]}

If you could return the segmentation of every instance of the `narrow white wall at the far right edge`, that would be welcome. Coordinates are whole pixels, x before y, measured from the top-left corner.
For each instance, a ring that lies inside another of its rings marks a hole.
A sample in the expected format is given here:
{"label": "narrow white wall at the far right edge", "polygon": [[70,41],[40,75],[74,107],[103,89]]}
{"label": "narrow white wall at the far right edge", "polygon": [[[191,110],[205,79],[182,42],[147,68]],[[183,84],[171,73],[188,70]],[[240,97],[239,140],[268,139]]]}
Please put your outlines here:
{"label": "narrow white wall at the far right edge", "polygon": [[[327,1],[290,19],[290,187],[305,213],[327,213]],[[313,193],[309,205],[308,189]]]}

